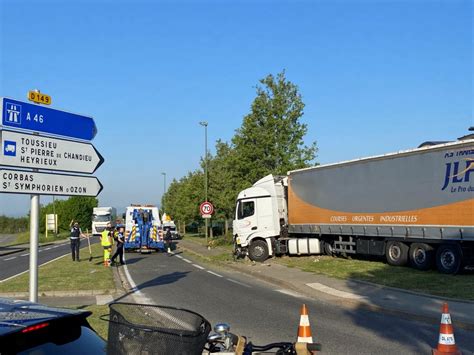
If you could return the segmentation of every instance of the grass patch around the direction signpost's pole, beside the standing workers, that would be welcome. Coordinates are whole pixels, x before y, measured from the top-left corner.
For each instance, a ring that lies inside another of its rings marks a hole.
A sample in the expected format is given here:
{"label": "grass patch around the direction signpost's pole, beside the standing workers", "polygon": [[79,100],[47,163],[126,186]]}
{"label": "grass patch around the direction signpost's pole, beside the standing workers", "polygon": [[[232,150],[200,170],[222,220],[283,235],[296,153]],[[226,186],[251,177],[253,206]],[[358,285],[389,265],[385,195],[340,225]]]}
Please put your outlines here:
{"label": "grass patch around the direction signpost's pole, beside the standing workers", "polygon": [[[87,242],[81,241],[87,245]],[[80,251],[81,261],[73,262],[69,254],[38,270],[38,292],[114,289],[111,268],[102,264],[103,250],[99,244],[92,245],[92,261],[88,248]],[[28,259],[25,259],[28,260]],[[27,261],[25,261],[27,262]],[[27,292],[29,273],[0,283],[0,292]]]}

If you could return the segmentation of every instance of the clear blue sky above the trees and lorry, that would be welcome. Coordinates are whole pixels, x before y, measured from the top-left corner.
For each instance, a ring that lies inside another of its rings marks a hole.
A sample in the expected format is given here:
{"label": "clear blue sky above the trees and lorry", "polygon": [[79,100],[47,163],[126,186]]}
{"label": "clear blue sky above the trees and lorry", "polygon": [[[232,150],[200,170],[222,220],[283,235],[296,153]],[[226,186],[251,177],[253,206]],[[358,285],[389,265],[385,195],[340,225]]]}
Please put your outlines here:
{"label": "clear blue sky above the trees and lorry", "polygon": [[[469,0],[0,0],[0,96],[39,89],[92,116],[99,205],[159,204],[285,70],[306,144],[334,163],[454,140],[474,126]],[[52,201],[41,196],[41,203]],[[24,216],[28,195],[0,194]]]}

